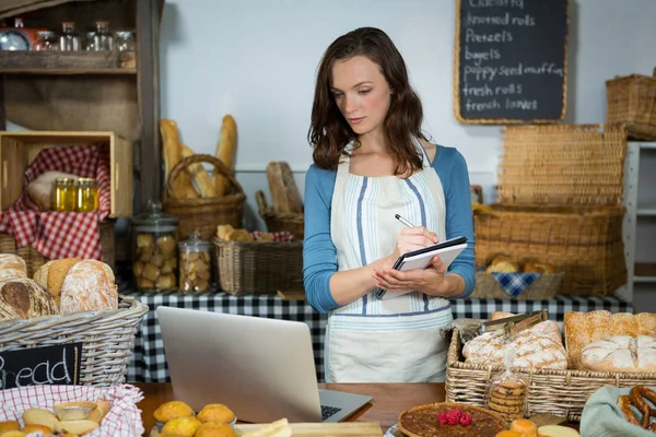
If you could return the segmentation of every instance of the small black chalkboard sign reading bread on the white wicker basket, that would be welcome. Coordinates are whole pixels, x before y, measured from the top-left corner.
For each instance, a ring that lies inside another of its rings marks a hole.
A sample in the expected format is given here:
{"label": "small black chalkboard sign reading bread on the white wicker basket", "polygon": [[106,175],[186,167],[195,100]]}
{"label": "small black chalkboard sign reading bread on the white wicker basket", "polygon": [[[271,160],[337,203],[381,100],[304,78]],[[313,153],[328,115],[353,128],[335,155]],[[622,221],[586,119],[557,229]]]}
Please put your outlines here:
{"label": "small black chalkboard sign reading bread on the white wicker basket", "polygon": [[80,383],[82,343],[0,352],[0,390]]}

